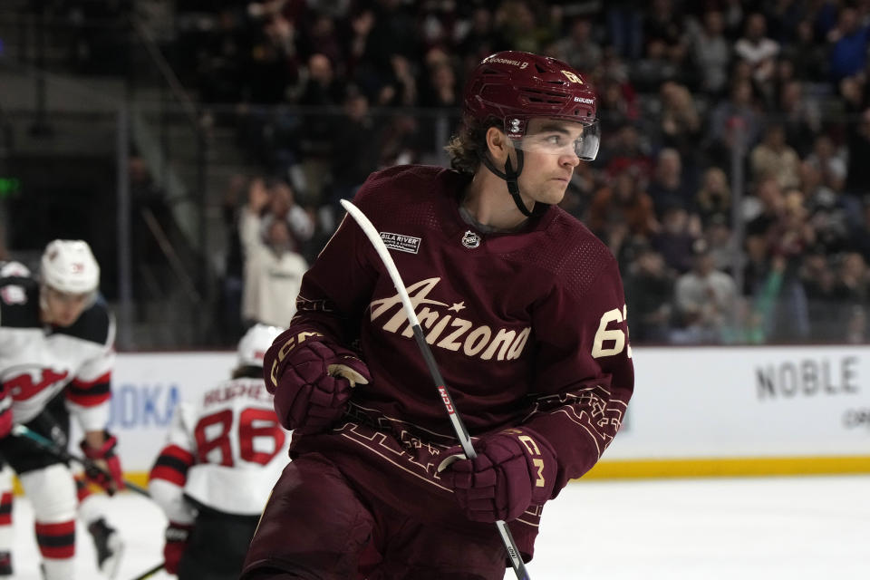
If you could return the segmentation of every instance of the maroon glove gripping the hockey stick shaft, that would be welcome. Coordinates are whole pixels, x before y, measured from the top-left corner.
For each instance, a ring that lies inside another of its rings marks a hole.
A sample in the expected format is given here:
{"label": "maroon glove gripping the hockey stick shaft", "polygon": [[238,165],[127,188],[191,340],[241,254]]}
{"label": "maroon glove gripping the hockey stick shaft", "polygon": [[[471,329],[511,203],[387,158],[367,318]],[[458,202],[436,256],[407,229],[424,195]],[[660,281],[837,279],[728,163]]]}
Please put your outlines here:
{"label": "maroon glove gripping the hockey stick shaft", "polygon": [[441,481],[452,488],[472,521],[492,523],[519,517],[543,504],[556,483],[556,454],[531,430],[508,429],[478,440],[475,459],[460,447],[448,449],[439,466]]}

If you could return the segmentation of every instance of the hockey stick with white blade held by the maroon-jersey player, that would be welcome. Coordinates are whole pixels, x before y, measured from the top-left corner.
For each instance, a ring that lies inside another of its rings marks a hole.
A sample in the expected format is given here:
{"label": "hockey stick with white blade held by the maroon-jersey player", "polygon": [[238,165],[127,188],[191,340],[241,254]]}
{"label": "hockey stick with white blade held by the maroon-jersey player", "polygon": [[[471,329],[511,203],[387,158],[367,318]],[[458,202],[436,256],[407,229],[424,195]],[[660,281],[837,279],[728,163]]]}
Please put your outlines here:
{"label": "hockey stick with white blade held by the maroon-jersey player", "polygon": [[[469,430],[465,428],[465,423],[462,422],[462,418],[459,417],[459,413],[456,412],[456,405],[453,404],[453,399],[450,397],[447,386],[444,384],[444,379],[441,377],[438,364],[435,362],[435,356],[432,354],[429,343],[426,342],[426,337],[423,335],[423,331],[420,328],[420,321],[417,319],[417,313],[414,312],[414,306],[411,304],[411,297],[405,289],[405,284],[401,281],[401,275],[399,275],[399,270],[392,261],[390,251],[383,244],[383,240],[381,239],[380,234],[378,234],[378,230],[372,226],[372,222],[369,221],[369,218],[365,217],[365,214],[360,211],[360,208],[354,206],[353,203],[347,199],[342,199],[341,204],[342,207],[347,210],[347,213],[350,214],[356,223],[362,228],[365,237],[368,237],[369,241],[372,242],[372,246],[378,252],[378,256],[381,256],[383,265],[387,266],[387,272],[390,274],[392,279],[392,285],[396,287],[396,292],[399,293],[401,305],[404,307],[405,315],[408,317],[408,322],[411,323],[411,330],[414,333],[417,346],[420,347],[420,353],[423,354],[423,358],[426,360],[426,366],[429,367],[429,372],[432,375],[432,379],[435,381],[435,387],[438,389],[441,402],[444,404],[450,422],[453,424],[453,430],[456,432],[456,437],[459,439],[459,445],[462,447],[462,451],[465,452],[465,456],[468,459],[476,458],[478,454],[471,445]],[[496,522],[496,527],[498,528],[498,535],[501,536],[501,541],[505,546],[505,550],[507,550],[510,565],[514,568],[518,580],[531,580],[526,571],[526,565],[523,564],[523,558],[519,555],[517,543],[514,541],[514,537],[511,536],[507,524],[504,520],[499,519]]]}

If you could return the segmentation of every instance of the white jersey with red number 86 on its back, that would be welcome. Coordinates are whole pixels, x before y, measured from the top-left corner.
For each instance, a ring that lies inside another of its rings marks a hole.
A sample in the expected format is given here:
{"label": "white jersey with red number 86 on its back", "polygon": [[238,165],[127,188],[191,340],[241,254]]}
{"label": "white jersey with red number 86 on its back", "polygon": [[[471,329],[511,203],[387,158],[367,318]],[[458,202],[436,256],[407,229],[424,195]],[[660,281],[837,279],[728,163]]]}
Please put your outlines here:
{"label": "white jersey with red number 86 on its back", "polygon": [[167,439],[150,492],[180,524],[193,521],[183,496],[227,514],[259,515],[290,460],[290,432],[259,378],[222,382],[198,401],[179,403]]}

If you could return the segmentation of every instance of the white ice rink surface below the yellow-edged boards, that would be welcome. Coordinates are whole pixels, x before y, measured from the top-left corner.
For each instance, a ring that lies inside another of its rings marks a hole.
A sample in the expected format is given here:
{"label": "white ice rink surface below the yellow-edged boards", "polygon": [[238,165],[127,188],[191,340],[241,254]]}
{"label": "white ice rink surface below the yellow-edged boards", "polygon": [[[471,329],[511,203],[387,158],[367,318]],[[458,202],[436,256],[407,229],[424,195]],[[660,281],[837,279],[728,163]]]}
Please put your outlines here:
{"label": "white ice rink surface below the yellow-edged boards", "polygon": [[[131,580],[162,560],[166,519],[130,493],[111,505],[127,542],[117,578]],[[26,499],[15,500],[14,526],[14,577],[38,580]],[[102,578],[81,525],[78,537],[78,577]],[[870,476],[574,482],[547,506],[528,571],[535,580],[870,578]]]}

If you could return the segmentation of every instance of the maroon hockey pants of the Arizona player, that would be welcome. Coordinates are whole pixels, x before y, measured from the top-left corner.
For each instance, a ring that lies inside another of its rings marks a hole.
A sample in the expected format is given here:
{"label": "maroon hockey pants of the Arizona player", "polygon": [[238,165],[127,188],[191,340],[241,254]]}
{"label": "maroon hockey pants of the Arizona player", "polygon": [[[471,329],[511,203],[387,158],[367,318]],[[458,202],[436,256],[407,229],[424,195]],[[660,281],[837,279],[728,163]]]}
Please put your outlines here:
{"label": "maroon hockey pants of the Arizona player", "polygon": [[501,580],[491,536],[424,525],[357,493],[328,459],[291,461],[275,484],[240,580]]}

